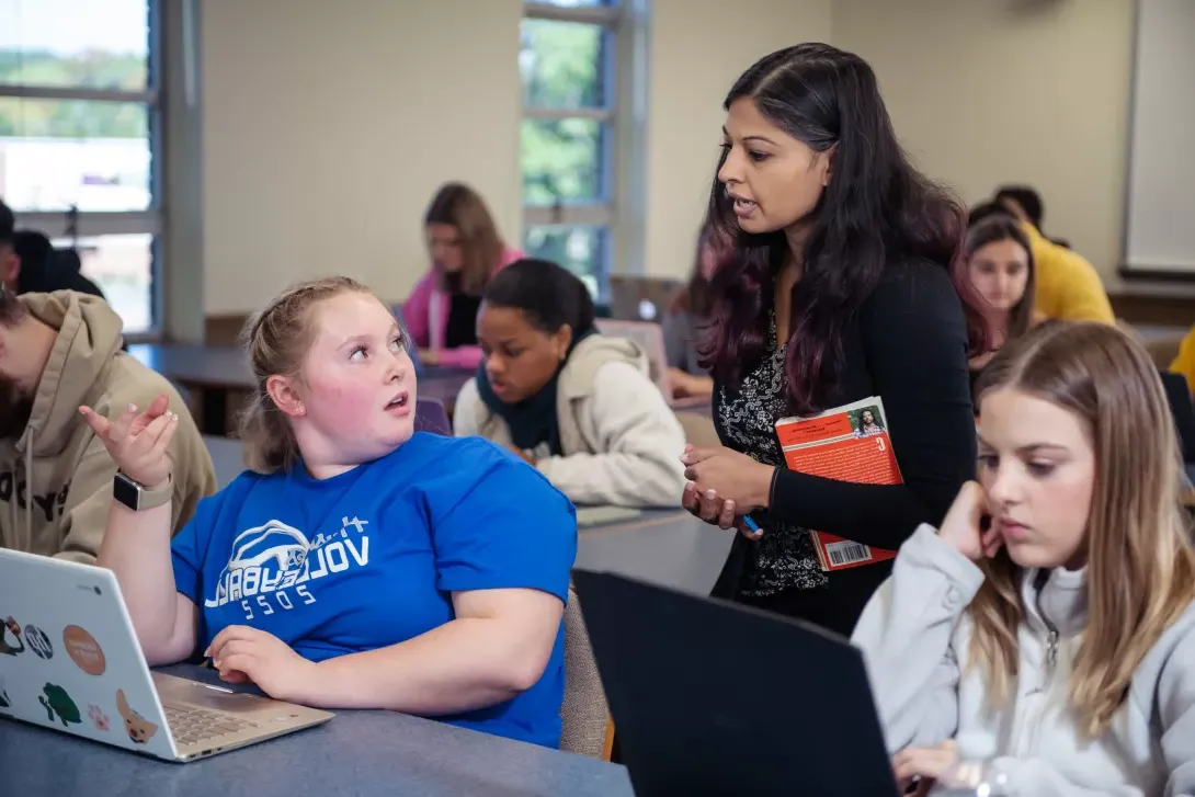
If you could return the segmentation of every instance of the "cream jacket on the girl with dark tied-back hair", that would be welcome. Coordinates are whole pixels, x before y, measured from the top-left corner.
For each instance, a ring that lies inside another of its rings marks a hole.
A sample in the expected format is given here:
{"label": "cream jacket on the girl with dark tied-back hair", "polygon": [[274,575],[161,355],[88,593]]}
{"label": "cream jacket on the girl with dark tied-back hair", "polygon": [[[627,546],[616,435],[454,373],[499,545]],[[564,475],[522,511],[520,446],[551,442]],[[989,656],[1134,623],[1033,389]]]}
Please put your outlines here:
{"label": "cream jacket on the girl with dark tied-back hair", "polygon": [[[633,341],[593,335],[560,370],[556,398],[562,456],[534,452],[535,467],[578,504],[678,507],[685,490],[685,430],[648,375]],[[505,422],[465,382],[453,410],[458,436],[511,445]]]}

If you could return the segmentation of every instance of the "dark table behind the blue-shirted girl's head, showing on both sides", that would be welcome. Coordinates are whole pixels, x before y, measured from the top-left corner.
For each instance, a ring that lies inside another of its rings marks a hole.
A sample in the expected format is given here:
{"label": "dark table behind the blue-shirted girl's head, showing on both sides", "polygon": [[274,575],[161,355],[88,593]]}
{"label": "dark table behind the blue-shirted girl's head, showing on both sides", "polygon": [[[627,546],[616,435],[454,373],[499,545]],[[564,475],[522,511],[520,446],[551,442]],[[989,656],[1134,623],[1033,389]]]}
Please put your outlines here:
{"label": "dark table behind the blue-shirted girl's head, showing on both sides", "polygon": [[[129,347],[129,355],[198,394],[201,429],[207,435],[227,435],[229,393],[247,393],[257,386],[238,347],[139,343]],[[418,378],[417,392],[421,398],[439,399],[451,415],[456,394],[474,373],[471,368],[429,366]]]}

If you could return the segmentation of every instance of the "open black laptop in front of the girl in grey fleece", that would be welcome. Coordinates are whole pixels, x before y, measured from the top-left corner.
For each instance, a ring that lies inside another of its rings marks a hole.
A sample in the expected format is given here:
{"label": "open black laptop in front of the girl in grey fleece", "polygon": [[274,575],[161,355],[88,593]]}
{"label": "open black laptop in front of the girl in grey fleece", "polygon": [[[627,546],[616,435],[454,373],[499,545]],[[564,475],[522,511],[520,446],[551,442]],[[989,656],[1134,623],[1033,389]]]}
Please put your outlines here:
{"label": "open black laptop in front of the girl in grey fleece", "polygon": [[638,797],[896,795],[863,656],[811,625],[574,570]]}

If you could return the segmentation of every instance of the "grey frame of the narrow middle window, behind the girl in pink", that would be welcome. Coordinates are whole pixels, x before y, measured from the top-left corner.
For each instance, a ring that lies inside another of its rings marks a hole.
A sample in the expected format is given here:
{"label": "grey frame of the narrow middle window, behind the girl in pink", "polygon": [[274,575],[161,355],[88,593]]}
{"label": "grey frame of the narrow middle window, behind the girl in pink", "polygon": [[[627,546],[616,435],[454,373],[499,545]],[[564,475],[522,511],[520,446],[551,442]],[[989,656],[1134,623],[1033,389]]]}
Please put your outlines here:
{"label": "grey frame of the narrow middle window, behind the girl in pink", "polygon": [[[602,197],[556,206],[523,202],[523,232],[528,227],[595,227],[600,231],[599,262],[590,276],[598,299],[609,295],[614,272],[643,272],[648,84],[648,18],[650,0],[615,0],[614,5],[558,6],[526,0],[522,19],[583,23],[603,29],[600,68],[602,108],[538,108],[522,97],[522,119],[594,119],[603,125]],[[522,167],[520,164],[520,184]],[[520,238],[523,240],[523,237]],[[619,264],[621,268],[615,266]]]}

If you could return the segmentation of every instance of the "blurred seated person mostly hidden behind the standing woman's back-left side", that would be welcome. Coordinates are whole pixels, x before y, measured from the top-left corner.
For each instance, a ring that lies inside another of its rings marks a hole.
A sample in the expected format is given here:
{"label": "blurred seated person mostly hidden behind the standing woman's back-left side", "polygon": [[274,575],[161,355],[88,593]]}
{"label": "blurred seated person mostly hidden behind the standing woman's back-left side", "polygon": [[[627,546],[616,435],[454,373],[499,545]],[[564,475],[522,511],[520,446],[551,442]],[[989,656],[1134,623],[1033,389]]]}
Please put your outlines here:
{"label": "blurred seated person mostly hidden behind the standing woman's back-left side", "polygon": [[701,368],[700,344],[710,312],[710,277],[717,266],[713,229],[706,223],[697,239],[697,255],[688,282],[673,295],[662,324],[668,355],[668,386],[674,399],[709,398],[713,394],[713,378]]}

